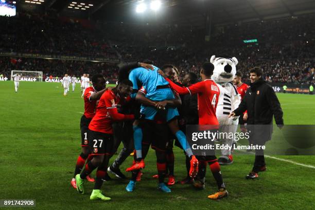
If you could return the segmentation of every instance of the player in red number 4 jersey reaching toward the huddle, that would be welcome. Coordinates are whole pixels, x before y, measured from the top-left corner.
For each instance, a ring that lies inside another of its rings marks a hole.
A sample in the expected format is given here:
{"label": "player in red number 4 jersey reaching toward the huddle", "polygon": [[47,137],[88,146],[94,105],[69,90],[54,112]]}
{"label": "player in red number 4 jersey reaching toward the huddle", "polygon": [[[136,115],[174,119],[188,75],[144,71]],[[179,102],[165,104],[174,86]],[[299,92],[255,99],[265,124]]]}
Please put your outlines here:
{"label": "player in red number 4 jersey reaching toward the huddle", "polygon": [[[200,76],[202,81],[190,85],[187,88],[183,88],[170,79],[166,78],[166,75],[159,71],[170,84],[171,88],[178,92],[180,95],[185,94],[198,94],[198,114],[199,114],[199,125],[213,125],[215,129],[219,128],[219,122],[216,116],[216,108],[220,95],[220,88],[213,80],[211,75],[213,74],[214,65],[211,62],[205,62],[202,65]],[[228,196],[228,191],[225,189],[223,183],[220,165],[215,155],[198,156],[201,164],[208,163],[212,174],[217,182],[219,191],[213,195],[209,195],[210,199],[219,199]]]}

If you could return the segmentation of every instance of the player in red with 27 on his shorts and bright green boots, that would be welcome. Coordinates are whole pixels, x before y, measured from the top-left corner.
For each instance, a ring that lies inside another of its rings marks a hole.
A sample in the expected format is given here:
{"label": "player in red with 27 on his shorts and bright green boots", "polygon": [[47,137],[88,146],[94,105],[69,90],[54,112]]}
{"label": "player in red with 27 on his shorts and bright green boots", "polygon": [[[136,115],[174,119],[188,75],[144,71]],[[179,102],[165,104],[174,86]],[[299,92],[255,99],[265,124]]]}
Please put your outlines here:
{"label": "player in red with 27 on his shorts and bright green boots", "polygon": [[86,176],[97,168],[94,189],[90,196],[91,200],[111,200],[102,195],[100,188],[103,178],[107,174],[109,159],[113,154],[113,129],[112,122],[120,120],[133,120],[134,115],[124,115],[117,111],[117,104],[122,104],[132,92],[132,82],[130,80],[121,81],[116,88],[107,90],[99,99],[95,116],[89,125],[89,147],[93,159],[89,161],[84,170],[77,174],[77,190],[84,194],[84,180]]}

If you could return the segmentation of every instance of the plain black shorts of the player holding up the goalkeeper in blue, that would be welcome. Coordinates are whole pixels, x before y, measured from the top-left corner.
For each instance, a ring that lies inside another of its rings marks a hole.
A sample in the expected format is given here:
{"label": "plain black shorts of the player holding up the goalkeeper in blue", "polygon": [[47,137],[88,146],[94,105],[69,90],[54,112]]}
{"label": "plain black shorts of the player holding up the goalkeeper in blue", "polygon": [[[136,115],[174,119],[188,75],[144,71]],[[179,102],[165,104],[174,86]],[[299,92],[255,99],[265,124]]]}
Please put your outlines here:
{"label": "plain black shorts of the player holding up the goalkeeper in blue", "polygon": [[169,141],[168,125],[144,120],[141,126],[143,132],[142,144],[151,145],[152,149],[165,152]]}

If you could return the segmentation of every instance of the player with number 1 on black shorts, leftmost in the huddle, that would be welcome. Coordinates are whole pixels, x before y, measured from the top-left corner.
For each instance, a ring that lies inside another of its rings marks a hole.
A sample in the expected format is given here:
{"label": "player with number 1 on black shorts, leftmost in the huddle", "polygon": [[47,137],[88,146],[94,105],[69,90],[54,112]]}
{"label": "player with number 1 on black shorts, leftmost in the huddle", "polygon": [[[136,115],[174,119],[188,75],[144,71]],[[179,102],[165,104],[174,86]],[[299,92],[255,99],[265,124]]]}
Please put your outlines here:
{"label": "player with number 1 on black shorts, leftmost in the huddle", "polygon": [[[88,159],[88,156],[91,153],[89,149],[88,127],[92,118],[95,115],[96,101],[100,99],[101,95],[106,90],[104,89],[105,85],[106,81],[104,79],[104,76],[101,74],[96,74],[92,77],[92,87],[85,89],[85,92],[83,94],[84,114],[82,115],[80,121],[82,152],[78,156],[74,177],[71,180],[71,185],[74,188],[77,188],[75,177],[81,172],[86,159]],[[90,176],[86,177],[86,180],[90,182],[95,181],[93,178],[90,178]]]}

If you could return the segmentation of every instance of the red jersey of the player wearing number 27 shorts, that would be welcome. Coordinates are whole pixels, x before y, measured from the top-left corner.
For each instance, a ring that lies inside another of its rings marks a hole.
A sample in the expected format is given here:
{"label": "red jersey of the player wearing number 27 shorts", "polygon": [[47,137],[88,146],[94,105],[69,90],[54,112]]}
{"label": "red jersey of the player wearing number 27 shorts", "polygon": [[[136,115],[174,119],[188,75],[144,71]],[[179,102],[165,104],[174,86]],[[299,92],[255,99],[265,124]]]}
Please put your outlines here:
{"label": "red jersey of the player wearing number 27 shorts", "polygon": [[114,94],[112,90],[107,90],[99,99],[96,113],[90,122],[89,129],[101,133],[113,133],[112,122],[119,120],[132,120],[133,114],[119,114],[117,111],[117,104],[124,102],[118,94]]}

